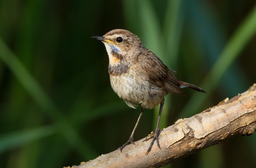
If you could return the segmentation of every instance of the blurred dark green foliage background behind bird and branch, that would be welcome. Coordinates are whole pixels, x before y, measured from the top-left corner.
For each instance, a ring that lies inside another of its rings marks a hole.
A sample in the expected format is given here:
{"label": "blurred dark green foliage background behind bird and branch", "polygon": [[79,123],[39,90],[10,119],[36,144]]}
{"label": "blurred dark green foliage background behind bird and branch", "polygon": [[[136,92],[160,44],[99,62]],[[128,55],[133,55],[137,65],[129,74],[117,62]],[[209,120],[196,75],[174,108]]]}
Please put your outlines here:
{"label": "blurred dark green foliage background behind bird and branch", "polygon": [[[137,34],[207,94],[168,95],[161,128],[245,92],[256,82],[256,3],[245,0],[1,0],[0,165],[78,165],[117,149],[140,109],[112,91],[108,56],[91,39],[114,28]],[[135,140],[155,127],[146,110]],[[165,167],[252,167],[256,135],[236,137]]]}

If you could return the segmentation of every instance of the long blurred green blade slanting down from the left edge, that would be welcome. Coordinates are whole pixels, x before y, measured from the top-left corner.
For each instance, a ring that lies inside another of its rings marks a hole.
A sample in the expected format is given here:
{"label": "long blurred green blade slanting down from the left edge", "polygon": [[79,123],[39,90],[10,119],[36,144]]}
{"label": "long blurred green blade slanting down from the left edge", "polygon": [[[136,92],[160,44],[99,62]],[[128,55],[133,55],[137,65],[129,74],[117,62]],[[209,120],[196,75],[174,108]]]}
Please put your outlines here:
{"label": "long blurred green blade slanting down from the left edge", "polygon": [[[49,97],[43,92],[39,84],[34,80],[34,78],[25,69],[22,63],[17,59],[16,55],[9,50],[9,48],[4,44],[4,41],[0,38],[0,58],[9,67],[9,69],[16,76],[18,81],[25,87],[27,92],[35,100],[35,102],[52,117],[54,122],[58,125],[58,130],[63,133],[65,139],[71,146],[75,146],[76,149],[82,154],[90,153],[91,155],[96,155],[96,152],[90,148],[89,144],[82,141],[76,130],[72,125],[65,119],[63,114],[57,109],[57,107],[50,101]],[[90,152],[89,152],[90,151]],[[90,159],[90,158],[89,158]]]}

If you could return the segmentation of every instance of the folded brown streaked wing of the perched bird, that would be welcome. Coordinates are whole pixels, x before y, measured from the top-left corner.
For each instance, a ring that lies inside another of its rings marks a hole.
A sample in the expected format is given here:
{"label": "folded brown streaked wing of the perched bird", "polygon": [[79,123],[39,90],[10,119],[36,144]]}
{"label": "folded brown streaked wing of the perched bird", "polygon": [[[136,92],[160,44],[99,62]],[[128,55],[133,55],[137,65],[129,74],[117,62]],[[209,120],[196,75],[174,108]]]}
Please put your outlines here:
{"label": "folded brown streaked wing of the perched bird", "polygon": [[146,53],[141,53],[137,61],[147,72],[150,82],[164,88],[167,92],[183,95],[180,83],[173,72],[153,52],[147,50]]}

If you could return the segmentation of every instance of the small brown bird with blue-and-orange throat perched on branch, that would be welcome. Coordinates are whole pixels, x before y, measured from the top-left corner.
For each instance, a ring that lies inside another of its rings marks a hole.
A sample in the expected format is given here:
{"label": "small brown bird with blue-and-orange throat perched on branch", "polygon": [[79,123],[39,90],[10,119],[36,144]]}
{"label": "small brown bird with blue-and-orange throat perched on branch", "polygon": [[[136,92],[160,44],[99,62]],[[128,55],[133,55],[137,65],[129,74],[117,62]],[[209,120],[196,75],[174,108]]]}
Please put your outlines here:
{"label": "small brown bird with blue-and-orange throat perched on branch", "polygon": [[178,80],[173,70],[168,68],[153,52],[144,47],[139,37],[125,29],[114,29],[103,36],[93,36],[105,45],[108,53],[108,72],[110,85],[114,92],[134,109],[141,112],[128,141],[120,147],[134,143],[134,133],[145,109],[153,109],[160,104],[157,125],[153,134],[146,138],[152,139],[146,155],[151,151],[154,142],[159,145],[160,117],[164,106],[164,96],[169,93],[184,95],[182,88],[190,87],[199,92],[202,88]]}

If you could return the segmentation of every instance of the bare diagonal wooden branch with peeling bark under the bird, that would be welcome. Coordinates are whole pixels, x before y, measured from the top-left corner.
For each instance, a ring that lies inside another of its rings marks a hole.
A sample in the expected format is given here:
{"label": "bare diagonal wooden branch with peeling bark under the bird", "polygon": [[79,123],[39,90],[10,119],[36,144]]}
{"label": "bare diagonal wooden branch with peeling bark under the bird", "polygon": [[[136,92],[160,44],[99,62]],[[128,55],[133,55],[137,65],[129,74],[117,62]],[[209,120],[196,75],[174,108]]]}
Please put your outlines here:
{"label": "bare diagonal wooden branch with peeling bark under the bird", "polygon": [[154,144],[148,155],[151,141],[126,146],[120,150],[83,162],[75,168],[149,168],[160,167],[191,155],[208,146],[218,144],[237,135],[251,135],[256,130],[256,84],[243,94],[226,98],[218,105],[190,118],[177,120],[159,135],[161,150]]}

